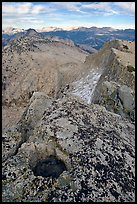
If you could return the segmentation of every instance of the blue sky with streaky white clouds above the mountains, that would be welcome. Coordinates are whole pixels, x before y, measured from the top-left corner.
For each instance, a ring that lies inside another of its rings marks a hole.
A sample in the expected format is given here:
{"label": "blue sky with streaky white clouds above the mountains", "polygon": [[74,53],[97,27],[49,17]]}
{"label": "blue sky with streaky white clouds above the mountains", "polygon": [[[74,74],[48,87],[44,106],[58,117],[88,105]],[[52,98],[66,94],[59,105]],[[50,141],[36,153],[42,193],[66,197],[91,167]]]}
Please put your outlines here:
{"label": "blue sky with streaky white clouds above the mountains", "polygon": [[135,29],[135,2],[2,2],[2,28]]}

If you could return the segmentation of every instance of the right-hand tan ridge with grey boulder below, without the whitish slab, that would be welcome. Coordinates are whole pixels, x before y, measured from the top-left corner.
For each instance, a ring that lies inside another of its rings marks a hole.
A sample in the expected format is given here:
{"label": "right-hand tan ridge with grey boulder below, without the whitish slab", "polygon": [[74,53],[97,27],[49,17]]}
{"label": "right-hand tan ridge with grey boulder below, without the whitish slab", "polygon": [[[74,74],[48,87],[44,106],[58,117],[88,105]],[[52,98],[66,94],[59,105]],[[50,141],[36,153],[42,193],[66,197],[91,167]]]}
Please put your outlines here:
{"label": "right-hand tan ridge with grey boulder below, without the whitish slab", "polygon": [[[109,110],[134,120],[135,43],[119,40],[108,42],[97,54],[86,58],[85,67],[88,70],[102,70],[92,95],[92,102],[102,104],[106,108],[109,107]],[[128,93],[124,94],[122,91],[124,96],[120,97],[123,86],[127,87]],[[125,98],[128,98],[127,103]]]}

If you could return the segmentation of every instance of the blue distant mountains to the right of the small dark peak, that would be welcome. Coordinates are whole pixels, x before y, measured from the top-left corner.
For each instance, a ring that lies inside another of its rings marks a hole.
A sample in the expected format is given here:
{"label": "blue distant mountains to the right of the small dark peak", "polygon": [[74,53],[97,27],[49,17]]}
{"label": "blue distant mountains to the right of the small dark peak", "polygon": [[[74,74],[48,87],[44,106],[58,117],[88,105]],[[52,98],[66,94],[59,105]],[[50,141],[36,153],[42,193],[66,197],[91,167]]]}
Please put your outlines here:
{"label": "blue distant mountains to the right of the small dark peak", "polygon": [[100,49],[105,42],[119,39],[119,40],[135,40],[135,30],[134,29],[125,29],[118,30],[112,29],[110,27],[104,28],[77,28],[70,31],[50,31],[43,32],[44,35],[53,35],[59,36],[62,38],[68,38],[74,41],[76,44],[85,44],[91,46],[95,49]]}

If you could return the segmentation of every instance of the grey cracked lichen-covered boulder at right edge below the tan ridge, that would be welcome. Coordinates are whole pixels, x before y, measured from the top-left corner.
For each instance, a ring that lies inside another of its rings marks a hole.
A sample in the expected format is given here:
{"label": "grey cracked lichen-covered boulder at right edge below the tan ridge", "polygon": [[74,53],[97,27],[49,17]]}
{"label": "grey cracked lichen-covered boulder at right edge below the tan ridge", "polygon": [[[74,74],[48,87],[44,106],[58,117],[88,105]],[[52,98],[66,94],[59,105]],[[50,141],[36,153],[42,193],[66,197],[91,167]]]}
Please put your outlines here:
{"label": "grey cracked lichen-covered boulder at right edge below the tan ridge", "polygon": [[121,86],[114,81],[103,81],[100,85],[100,96],[96,102],[109,111],[132,121],[135,120],[134,91],[126,85]]}

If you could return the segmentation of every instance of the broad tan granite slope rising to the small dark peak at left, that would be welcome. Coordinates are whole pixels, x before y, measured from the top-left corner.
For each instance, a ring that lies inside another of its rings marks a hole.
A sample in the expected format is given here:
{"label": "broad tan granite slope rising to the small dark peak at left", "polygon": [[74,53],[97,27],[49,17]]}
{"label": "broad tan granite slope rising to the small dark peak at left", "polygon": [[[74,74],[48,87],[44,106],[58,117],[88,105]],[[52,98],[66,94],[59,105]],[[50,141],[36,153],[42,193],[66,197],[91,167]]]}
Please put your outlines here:
{"label": "broad tan granite slope rising to the small dark peak at left", "polygon": [[19,120],[33,92],[56,98],[80,77],[87,54],[71,41],[29,30],[5,46],[2,55],[3,128],[8,128]]}

